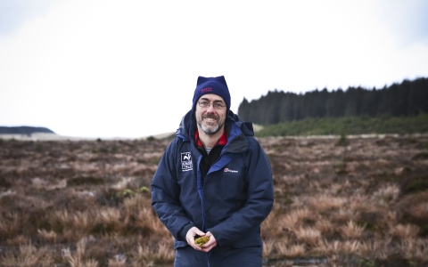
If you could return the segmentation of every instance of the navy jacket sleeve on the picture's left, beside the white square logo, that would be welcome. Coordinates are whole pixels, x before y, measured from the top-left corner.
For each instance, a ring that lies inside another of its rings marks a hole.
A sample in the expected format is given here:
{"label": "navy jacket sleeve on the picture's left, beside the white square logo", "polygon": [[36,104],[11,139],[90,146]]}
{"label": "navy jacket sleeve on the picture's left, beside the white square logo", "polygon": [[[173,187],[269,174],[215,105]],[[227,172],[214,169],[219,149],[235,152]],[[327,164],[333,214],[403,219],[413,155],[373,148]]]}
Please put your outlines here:
{"label": "navy jacket sleeve on the picture's left, beside the white square logo", "polygon": [[191,223],[180,205],[180,187],[177,183],[176,175],[176,154],[177,142],[172,142],[165,150],[161,162],[153,176],[152,187],[152,207],[159,219],[179,241],[185,241],[180,233],[183,228]]}

